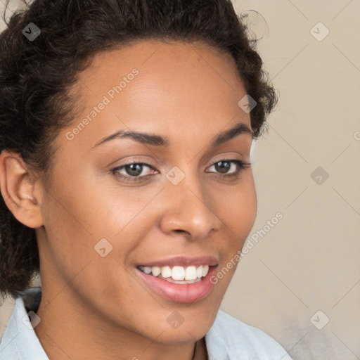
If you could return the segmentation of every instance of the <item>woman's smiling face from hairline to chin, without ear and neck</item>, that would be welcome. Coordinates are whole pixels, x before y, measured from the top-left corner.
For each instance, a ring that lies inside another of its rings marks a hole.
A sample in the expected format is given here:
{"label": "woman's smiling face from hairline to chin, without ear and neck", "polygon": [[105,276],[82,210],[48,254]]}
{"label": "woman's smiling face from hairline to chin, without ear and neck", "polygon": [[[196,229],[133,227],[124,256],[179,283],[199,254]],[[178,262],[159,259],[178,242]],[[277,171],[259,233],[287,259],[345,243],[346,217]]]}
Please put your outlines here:
{"label": "woman's smiling face from hairline to chin, without ear and neck", "polygon": [[202,43],[140,41],[97,55],[78,84],[41,203],[43,299],[136,336],[200,339],[257,210],[236,65]]}

